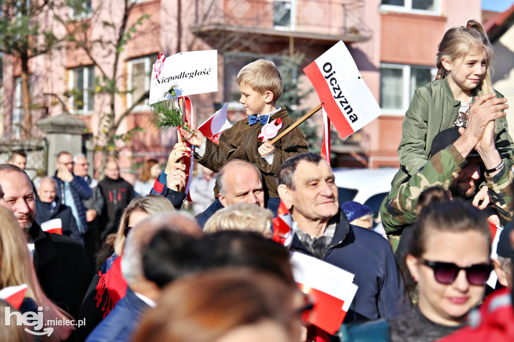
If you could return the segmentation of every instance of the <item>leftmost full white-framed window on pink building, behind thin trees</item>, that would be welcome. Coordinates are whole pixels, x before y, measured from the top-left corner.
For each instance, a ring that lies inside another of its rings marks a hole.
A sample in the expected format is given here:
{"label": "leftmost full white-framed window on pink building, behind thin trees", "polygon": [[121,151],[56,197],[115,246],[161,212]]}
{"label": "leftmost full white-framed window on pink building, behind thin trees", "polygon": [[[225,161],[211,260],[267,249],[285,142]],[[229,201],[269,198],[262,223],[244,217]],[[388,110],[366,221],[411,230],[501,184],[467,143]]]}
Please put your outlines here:
{"label": "leftmost full white-framed window on pink building, behind thin trees", "polygon": [[94,108],[95,68],[92,65],[69,70],[70,108],[74,114],[90,114]]}

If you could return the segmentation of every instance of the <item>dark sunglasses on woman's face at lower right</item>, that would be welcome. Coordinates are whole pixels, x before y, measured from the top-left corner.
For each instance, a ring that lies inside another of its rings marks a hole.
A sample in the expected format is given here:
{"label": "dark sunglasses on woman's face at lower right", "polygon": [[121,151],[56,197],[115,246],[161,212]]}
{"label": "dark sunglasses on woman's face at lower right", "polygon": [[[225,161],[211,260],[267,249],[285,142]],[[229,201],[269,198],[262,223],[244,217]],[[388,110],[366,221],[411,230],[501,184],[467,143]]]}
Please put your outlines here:
{"label": "dark sunglasses on woman's face at lower right", "polygon": [[492,265],[488,263],[459,267],[451,262],[428,261],[421,258],[419,260],[434,270],[434,278],[437,282],[446,285],[453,283],[458,273],[464,270],[471,285],[484,286],[492,271]]}

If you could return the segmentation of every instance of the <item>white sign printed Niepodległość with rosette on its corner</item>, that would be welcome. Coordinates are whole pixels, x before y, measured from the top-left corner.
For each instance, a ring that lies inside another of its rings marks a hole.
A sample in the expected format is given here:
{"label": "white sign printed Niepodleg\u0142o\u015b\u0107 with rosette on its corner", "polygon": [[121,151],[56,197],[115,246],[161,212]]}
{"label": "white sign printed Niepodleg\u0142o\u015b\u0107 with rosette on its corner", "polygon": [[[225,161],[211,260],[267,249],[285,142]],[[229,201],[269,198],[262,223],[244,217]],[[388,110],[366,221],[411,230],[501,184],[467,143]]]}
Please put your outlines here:
{"label": "white sign printed Niepodleg\u0142o\u015b\u0107 with rosette on its corner", "polygon": [[152,67],[149,104],[166,100],[171,86],[182,96],[218,91],[217,66],[217,50],[160,54]]}

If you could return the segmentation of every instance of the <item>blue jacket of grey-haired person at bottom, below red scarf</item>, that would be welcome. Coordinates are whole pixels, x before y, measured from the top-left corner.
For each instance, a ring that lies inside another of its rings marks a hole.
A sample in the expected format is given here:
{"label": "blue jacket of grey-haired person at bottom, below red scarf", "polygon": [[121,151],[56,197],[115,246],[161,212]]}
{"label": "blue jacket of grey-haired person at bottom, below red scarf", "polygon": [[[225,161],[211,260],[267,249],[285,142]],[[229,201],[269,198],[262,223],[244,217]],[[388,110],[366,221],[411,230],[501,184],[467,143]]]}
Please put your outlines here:
{"label": "blue jacket of grey-haired person at bottom, below red scarf", "polygon": [[86,342],[128,342],[138,327],[141,315],[150,309],[129,288],[125,297],[121,298],[113,311],[87,337]]}

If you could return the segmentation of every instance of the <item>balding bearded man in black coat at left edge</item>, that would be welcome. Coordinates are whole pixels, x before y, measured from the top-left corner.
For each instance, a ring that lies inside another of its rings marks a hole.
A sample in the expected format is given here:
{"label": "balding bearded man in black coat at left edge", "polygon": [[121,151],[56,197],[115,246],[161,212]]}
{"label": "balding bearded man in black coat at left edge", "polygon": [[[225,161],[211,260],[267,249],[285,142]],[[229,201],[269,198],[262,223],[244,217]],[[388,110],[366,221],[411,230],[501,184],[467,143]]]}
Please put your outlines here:
{"label": "balding bearded man in black coat at left edge", "polygon": [[4,195],[0,205],[12,211],[27,237],[41,288],[50,300],[77,317],[91,281],[91,269],[82,244],[70,237],[41,230],[34,221],[32,184],[21,168],[0,164],[0,187]]}

